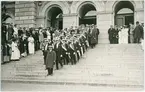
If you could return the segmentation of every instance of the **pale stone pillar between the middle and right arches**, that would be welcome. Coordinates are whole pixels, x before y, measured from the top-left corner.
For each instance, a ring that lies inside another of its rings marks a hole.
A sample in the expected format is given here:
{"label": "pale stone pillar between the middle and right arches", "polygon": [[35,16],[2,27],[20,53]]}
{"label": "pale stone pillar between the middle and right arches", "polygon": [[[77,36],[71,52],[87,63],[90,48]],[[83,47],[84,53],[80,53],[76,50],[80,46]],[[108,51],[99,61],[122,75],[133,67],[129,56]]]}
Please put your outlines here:
{"label": "pale stone pillar between the middle and right arches", "polygon": [[100,30],[98,43],[109,43],[108,40],[108,29],[112,24],[112,13],[111,12],[98,12],[97,13],[97,26]]}

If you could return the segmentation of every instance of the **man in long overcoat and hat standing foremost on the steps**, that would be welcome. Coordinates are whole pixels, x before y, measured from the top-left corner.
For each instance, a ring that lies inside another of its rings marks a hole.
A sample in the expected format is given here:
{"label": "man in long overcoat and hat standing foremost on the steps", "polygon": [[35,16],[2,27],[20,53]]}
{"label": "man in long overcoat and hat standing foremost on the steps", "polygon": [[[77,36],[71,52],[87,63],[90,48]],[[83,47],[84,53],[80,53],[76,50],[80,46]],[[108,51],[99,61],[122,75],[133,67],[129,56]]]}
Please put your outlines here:
{"label": "man in long overcoat and hat standing foremost on the steps", "polygon": [[48,75],[53,74],[53,65],[56,60],[56,53],[53,51],[53,46],[49,45],[48,46],[48,51],[47,51],[47,56],[46,56],[46,69],[48,70]]}

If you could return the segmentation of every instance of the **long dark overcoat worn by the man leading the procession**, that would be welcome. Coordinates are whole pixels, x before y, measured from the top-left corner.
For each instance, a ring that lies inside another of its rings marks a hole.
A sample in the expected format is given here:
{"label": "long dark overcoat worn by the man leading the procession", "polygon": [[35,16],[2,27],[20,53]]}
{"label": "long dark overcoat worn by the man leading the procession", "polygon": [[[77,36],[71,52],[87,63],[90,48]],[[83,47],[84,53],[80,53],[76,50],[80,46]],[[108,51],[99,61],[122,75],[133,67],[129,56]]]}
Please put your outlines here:
{"label": "long dark overcoat worn by the man leading the procession", "polygon": [[53,68],[54,61],[56,60],[55,51],[48,51],[46,56],[46,68]]}

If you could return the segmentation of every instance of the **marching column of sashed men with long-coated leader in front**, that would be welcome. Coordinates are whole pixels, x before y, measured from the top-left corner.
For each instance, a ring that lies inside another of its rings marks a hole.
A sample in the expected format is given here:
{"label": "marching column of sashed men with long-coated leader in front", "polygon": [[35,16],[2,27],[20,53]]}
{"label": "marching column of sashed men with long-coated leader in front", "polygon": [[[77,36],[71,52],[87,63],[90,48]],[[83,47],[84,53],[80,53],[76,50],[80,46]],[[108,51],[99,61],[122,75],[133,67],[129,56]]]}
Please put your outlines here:
{"label": "marching column of sashed men with long-coated leader in front", "polygon": [[89,46],[93,48],[98,43],[98,35],[95,25],[55,30],[53,38],[46,38],[42,45],[48,75],[53,74],[54,64],[57,70],[63,65],[75,65]]}

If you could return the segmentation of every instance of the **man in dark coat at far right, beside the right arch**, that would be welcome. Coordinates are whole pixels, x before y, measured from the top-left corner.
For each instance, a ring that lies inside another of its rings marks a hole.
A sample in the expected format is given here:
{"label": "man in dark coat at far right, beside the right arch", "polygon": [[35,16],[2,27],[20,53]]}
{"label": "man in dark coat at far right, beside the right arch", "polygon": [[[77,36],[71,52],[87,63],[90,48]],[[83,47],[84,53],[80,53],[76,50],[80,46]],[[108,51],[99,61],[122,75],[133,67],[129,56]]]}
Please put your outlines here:
{"label": "man in dark coat at far right, beside the right arch", "polygon": [[136,22],[136,27],[134,29],[134,42],[140,43],[140,39],[142,37],[143,33],[143,27],[139,24],[139,22]]}

